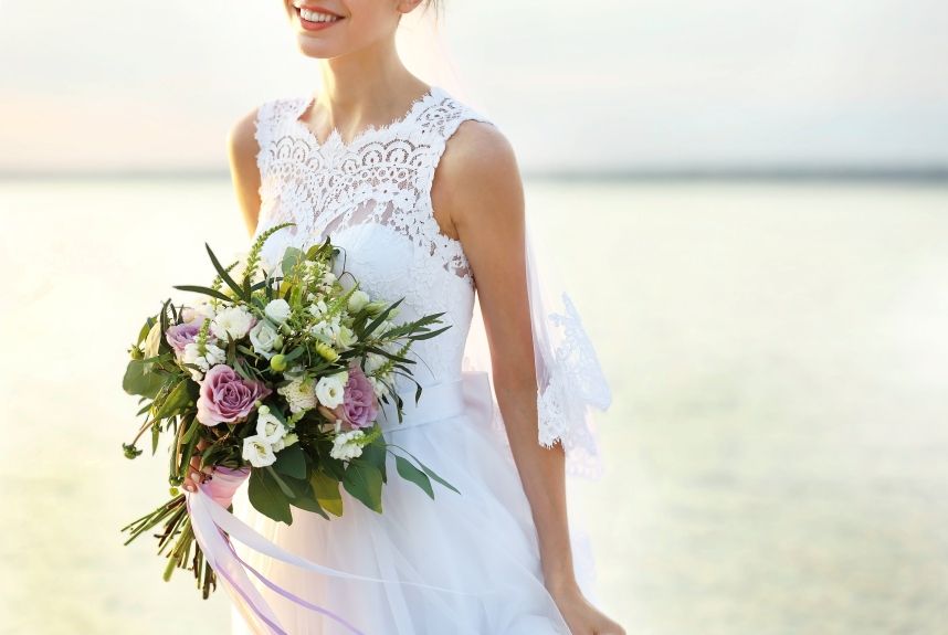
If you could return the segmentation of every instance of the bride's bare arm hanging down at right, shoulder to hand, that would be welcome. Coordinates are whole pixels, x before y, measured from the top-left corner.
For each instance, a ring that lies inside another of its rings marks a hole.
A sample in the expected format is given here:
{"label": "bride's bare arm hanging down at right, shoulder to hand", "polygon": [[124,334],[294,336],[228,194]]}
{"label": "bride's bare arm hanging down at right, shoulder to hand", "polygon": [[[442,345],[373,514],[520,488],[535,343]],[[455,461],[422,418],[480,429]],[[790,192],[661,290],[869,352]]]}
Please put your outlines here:
{"label": "bride's bare arm hanging down at right, shoulder to hand", "polygon": [[537,378],[527,296],[523,182],[506,137],[464,121],[432,186],[439,224],[460,237],[474,278],[491,349],[494,390],[539,538],[544,580],[576,635],[622,634],[579,591],[567,519],[565,453],[537,435]]}

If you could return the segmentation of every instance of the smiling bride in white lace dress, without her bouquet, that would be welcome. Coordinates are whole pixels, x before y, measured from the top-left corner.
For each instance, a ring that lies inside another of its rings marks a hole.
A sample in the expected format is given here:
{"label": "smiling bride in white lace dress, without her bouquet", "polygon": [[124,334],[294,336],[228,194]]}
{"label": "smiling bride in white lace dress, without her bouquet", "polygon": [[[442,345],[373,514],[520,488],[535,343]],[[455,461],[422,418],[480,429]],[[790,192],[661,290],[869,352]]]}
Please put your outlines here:
{"label": "smiling bride in white lace dress, without her bouquet", "polygon": [[[452,328],[412,349],[419,406],[383,430],[460,494],[440,488],[431,500],[389,478],[382,514],[344,490],[341,517],[294,509],[288,526],[238,494],[234,515],[282,549],[397,582],[326,576],[238,544],[299,602],[261,585],[280,628],[235,597],[232,633],[623,635],[587,599],[590,573],[575,564],[566,467],[589,436],[582,413],[567,416],[567,391],[578,388],[560,384],[561,360],[540,352],[550,336],[531,314],[541,305],[514,151],[489,119],[423,83],[397,53],[402,17],[436,0],[282,1],[299,50],[319,60],[323,89],[268,100],[233,127],[244,221],[254,236],[296,223],[266,243],[270,258],[331,236],[362,288],[405,298],[399,319],[444,311]],[[475,317],[489,352],[481,370],[467,339]],[[399,384],[407,404],[413,388]],[[186,488],[208,476],[192,473]]]}

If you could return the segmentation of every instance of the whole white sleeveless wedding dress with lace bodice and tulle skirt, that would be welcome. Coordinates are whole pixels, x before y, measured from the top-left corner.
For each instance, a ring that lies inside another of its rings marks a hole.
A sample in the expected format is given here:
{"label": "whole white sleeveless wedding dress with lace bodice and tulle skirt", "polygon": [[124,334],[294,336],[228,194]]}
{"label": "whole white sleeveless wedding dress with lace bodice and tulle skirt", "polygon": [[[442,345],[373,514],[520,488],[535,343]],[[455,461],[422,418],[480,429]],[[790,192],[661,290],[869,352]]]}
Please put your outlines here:
{"label": "whole white sleeveless wedding dress with lace bodice and tulle skirt", "polygon": [[[310,97],[267,102],[256,139],[262,184],[257,235],[278,223],[264,256],[327,235],[343,247],[340,266],[369,294],[404,297],[397,320],[444,311],[444,334],[417,342],[414,378],[422,406],[404,422],[385,424],[386,438],[455,486],[434,484],[435,499],[402,479],[388,458],[382,514],[343,490],[344,515],[326,520],[293,508],[291,526],[254,510],[243,487],[234,515],[283,549],[313,562],[410,584],[334,578],[260,555],[242,544],[250,565],[291,593],[325,607],[367,635],[569,635],[544,585],[536,528],[484,372],[466,370],[465,340],[475,307],[475,281],[459,241],[432,214],[431,183],[445,144],[466,119],[487,121],[438,85],[391,124],[370,127],[346,144],[334,130],[325,142],[299,120]],[[399,378],[405,402],[414,384]],[[433,404],[425,409],[425,402]],[[540,425],[546,425],[540,421]],[[579,583],[593,595],[586,533],[571,522]],[[293,635],[351,633],[294,604],[256,580],[280,624]],[[268,633],[238,608],[232,633]]]}

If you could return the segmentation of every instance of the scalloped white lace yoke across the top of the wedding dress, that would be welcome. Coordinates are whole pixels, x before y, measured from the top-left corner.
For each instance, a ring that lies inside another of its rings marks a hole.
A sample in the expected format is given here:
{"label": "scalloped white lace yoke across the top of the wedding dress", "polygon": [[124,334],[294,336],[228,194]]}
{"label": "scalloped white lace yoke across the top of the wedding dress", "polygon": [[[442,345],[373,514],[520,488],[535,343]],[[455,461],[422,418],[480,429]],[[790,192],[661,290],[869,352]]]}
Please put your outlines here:
{"label": "scalloped white lace yoke across the top of the wedding dress", "polygon": [[362,223],[386,225],[424,248],[474,286],[460,241],[441,231],[431,186],[446,140],[465,119],[491,123],[433,86],[407,115],[369,127],[346,144],[334,129],[325,142],[299,120],[312,98],[264,104],[257,118],[261,219],[292,221],[309,242]]}

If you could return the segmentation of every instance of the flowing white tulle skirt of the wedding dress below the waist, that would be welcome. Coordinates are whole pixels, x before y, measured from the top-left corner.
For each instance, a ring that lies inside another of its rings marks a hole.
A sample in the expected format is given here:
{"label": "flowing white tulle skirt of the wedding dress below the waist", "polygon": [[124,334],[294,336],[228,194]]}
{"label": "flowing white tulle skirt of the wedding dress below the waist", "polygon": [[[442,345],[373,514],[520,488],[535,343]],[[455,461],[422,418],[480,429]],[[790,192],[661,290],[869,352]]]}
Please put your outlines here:
{"label": "flowing white tulle skirt of the wedding dress below the waist", "polygon": [[[569,635],[544,585],[536,526],[503,427],[493,419],[487,375],[464,371],[460,385],[463,403],[455,414],[420,421],[408,413],[402,424],[386,426],[385,436],[461,494],[433,483],[432,500],[398,475],[389,455],[382,514],[340,488],[341,517],[326,520],[293,508],[293,525],[287,526],[253,509],[245,487],[234,498],[234,515],[283,549],[325,567],[394,582],[306,571],[238,543],[240,557],[272,582],[366,635]],[[425,399],[422,394],[422,403]],[[593,561],[586,531],[575,518],[570,535],[579,585],[592,601]],[[254,584],[286,633],[352,633],[256,580]],[[267,631],[250,624],[235,606],[231,633]]]}

